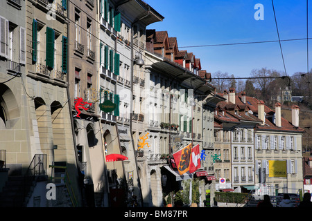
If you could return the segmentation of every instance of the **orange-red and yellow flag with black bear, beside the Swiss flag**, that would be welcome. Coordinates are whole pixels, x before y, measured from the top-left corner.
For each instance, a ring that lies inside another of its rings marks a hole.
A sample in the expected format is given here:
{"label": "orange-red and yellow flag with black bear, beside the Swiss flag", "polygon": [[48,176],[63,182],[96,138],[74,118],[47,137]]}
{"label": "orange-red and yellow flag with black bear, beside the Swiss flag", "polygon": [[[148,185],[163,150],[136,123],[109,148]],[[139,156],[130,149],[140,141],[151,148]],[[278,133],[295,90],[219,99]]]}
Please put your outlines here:
{"label": "orange-red and yellow flag with black bear, beside the Swiss flag", "polygon": [[173,153],[173,158],[175,159],[175,164],[177,166],[177,171],[179,171],[180,175],[187,173],[189,171],[189,165],[191,160],[191,147],[189,144],[182,148],[182,150]]}

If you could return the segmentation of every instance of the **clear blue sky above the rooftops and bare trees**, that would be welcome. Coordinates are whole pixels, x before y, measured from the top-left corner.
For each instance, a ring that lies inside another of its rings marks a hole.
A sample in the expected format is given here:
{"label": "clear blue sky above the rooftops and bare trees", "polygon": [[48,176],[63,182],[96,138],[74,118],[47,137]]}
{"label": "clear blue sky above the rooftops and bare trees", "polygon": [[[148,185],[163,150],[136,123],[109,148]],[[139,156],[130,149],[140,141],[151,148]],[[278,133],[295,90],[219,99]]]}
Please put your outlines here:
{"label": "clear blue sky above the rooftops and bare trees", "polygon": [[[275,0],[279,37],[306,38],[306,0]],[[284,72],[279,42],[234,46],[206,46],[252,41],[278,40],[272,1],[270,0],[146,0],[164,16],[164,21],[150,24],[148,29],[167,30],[177,37],[179,50],[193,52],[200,58],[203,70],[220,70],[235,77],[250,77],[253,68]],[[255,20],[254,6],[263,5],[263,20]],[[309,37],[312,37],[312,1],[309,1]],[[282,41],[287,75],[306,72],[306,40]],[[309,69],[312,68],[312,41],[309,40]],[[214,77],[214,76],[212,76]]]}

